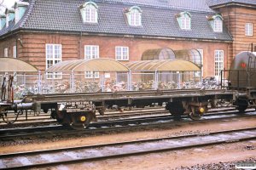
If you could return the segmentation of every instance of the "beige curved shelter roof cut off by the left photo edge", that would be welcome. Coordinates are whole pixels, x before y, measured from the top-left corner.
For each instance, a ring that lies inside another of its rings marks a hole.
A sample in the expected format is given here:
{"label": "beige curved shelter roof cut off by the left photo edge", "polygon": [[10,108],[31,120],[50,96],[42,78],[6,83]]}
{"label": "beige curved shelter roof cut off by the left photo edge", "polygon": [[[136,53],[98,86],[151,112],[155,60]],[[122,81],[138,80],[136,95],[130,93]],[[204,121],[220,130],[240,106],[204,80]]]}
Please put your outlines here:
{"label": "beige curved shelter roof cut off by the left photo edge", "polygon": [[0,72],[36,72],[38,69],[20,59],[0,57]]}

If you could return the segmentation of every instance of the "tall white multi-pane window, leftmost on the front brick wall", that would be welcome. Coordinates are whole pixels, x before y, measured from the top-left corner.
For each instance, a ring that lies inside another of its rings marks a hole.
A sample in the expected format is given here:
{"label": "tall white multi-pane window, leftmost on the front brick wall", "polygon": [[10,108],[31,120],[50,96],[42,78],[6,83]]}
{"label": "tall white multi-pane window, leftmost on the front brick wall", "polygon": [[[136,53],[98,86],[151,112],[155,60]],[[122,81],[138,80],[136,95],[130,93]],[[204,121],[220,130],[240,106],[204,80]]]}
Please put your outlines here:
{"label": "tall white multi-pane window, leftmost on the front brick wall", "polygon": [[[46,44],[46,69],[61,62],[61,44]],[[61,73],[47,73],[49,79],[61,79]]]}

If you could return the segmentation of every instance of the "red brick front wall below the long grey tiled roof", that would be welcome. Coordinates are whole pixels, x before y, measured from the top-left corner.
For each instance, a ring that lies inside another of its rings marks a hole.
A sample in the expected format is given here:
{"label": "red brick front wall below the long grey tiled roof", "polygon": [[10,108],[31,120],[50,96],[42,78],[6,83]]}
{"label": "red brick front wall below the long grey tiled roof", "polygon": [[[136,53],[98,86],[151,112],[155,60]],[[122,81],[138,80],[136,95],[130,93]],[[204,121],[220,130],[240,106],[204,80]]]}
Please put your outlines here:
{"label": "red brick front wall below the long grey tiled roof", "polygon": [[[214,75],[214,50],[224,50],[224,67],[230,64],[228,51],[230,43],[227,42],[202,42],[181,41],[131,37],[98,37],[64,34],[39,34],[22,33],[20,37],[23,47],[18,43],[18,58],[23,59],[45,70],[45,44],[62,44],[62,60],[84,59],[84,45],[99,45],[101,58],[115,59],[115,46],[127,46],[130,52],[130,61],[140,60],[145,50],[150,48],[172,48],[173,50],[184,48],[200,48],[204,52],[204,76]],[[0,51],[3,56],[3,48],[15,45],[17,37],[9,37],[0,42]],[[9,54],[9,56],[12,56]]]}

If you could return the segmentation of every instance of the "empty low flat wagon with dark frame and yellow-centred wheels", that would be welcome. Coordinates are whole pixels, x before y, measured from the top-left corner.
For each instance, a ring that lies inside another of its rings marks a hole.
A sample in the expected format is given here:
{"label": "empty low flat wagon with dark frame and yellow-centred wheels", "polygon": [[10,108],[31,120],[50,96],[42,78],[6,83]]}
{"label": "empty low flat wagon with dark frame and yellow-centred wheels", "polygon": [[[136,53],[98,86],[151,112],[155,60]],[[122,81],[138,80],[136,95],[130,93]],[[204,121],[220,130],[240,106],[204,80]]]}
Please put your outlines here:
{"label": "empty low flat wagon with dark frame and yellow-centred wheels", "polygon": [[35,111],[50,110],[51,116],[61,124],[79,128],[87,127],[96,111],[103,115],[106,108],[113,105],[119,108],[166,105],[166,110],[177,118],[188,115],[197,120],[207,112],[210,103],[223,99],[231,101],[233,98],[232,91],[187,89],[27,95],[22,103],[31,103]]}

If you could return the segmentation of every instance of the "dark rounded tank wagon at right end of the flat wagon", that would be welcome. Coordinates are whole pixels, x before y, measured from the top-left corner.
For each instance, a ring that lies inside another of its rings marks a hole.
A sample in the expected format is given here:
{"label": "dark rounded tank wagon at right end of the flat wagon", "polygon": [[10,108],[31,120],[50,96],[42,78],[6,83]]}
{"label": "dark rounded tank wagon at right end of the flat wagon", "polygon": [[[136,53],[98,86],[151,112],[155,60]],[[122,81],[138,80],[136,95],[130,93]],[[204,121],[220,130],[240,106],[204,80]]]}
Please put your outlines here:
{"label": "dark rounded tank wagon at right end of the flat wagon", "polygon": [[[236,94],[233,105],[238,111],[245,111],[247,107],[256,105],[256,52],[244,51],[233,59],[230,70],[224,71],[228,78],[228,90]],[[222,82],[224,79],[222,78]],[[222,84],[222,83],[221,83]]]}

